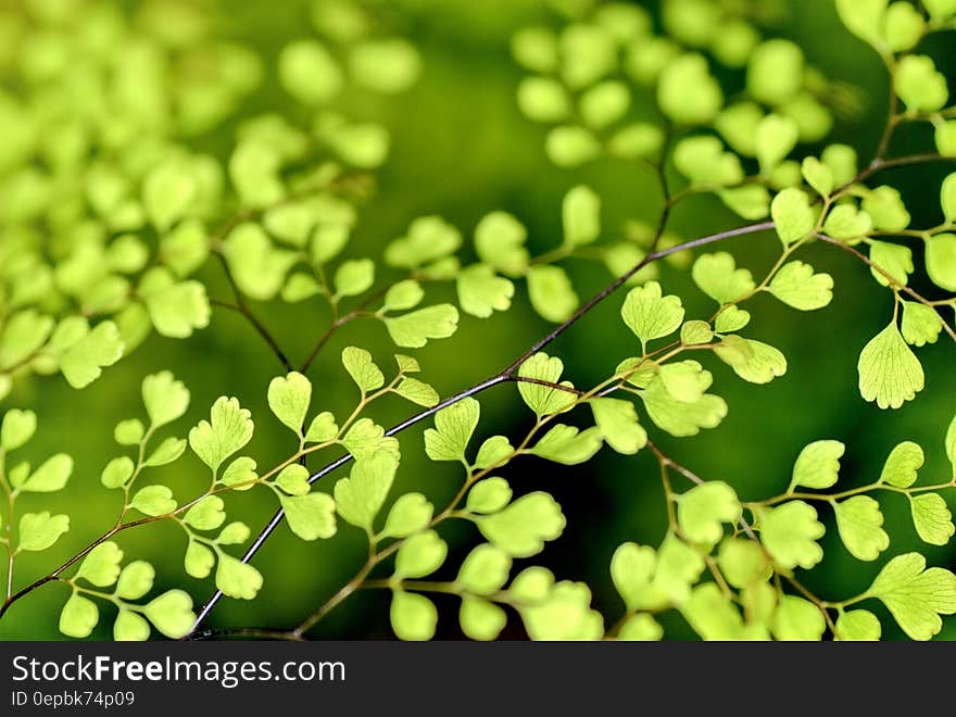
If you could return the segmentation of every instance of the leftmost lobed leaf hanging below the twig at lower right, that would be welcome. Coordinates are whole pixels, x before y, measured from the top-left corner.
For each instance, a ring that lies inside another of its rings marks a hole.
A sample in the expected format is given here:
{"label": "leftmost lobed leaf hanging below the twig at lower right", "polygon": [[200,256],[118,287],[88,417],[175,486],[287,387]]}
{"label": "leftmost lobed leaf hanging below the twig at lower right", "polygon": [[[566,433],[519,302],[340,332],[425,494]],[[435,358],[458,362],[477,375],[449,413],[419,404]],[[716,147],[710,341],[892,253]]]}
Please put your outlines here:
{"label": "leftmost lobed leaf hanging below the twig at lower right", "polygon": [[809,503],[789,501],[779,507],[758,512],[760,540],[781,567],[809,569],[823,559],[817,540],[823,537],[823,524]]}

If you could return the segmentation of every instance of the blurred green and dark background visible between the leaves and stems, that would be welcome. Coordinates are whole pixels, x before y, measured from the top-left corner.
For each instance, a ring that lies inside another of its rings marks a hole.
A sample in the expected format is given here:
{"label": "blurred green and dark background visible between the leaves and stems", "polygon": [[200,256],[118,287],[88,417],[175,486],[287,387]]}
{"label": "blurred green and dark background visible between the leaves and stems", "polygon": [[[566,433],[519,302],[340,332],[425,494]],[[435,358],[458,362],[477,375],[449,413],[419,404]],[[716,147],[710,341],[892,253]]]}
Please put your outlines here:
{"label": "blurred green and dark background visible between the leaves and stems", "polygon": [[[600,161],[575,171],[556,168],[544,155],[545,129],[518,113],[515,89],[521,71],[511,59],[508,40],[530,22],[553,22],[542,2],[397,0],[389,4],[399,32],[420,49],[425,70],[411,91],[378,105],[352,108],[360,116],[362,112],[374,114],[392,131],[391,159],[379,173],[375,193],[362,212],[353,254],[380,255],[382,247],[401,236],[412,218],[424,214],[444,216],[468,237],[477,221],[496,209],[514,213],[528,226],[532,251],[540,253],[559,243],[562,197],[580,183],[591,185],[604,198],[605,238],[619,236],[628,219],[656,217],[659,191],[646,169],[622,161]],[[641,4],[657,9],[656,2]],[[855,120],[841,122],[832,140],[854,146],[866,161],[876,148],[885,116],[886,80],[879,59],[841,27],[830,0],[790,0],[784,4],[788,14],[779,34],[798,42],[809,61],[829,77],[861,91],[866,100],[863,112]],[[311,35],[303,2],[222,0],[218,8],[217,33],[253,46],[271,68],[285,42]],[[952,35],[943,40],[932,48],[940,58],[938,64],[954,67]],[[951,47],[946,47],[947,41]],[[742,84],[739,73],[728,73],[722,79],[729,87]],[[243,111],[256,108],[292,111],[272,74]],[[225,158],[232,130],[227,125],[199,138],[196,147]],[[901,135],[895,151],[929,146],[928,136],[917,130]],[[944,167],[926,165],[888,173],[884,178],[903,190],[914,226],[923,227],[939,223],[938,188],[944,175]],[[694,238],[735,224],[739,221],[716,201],[702,198],[682,204],[671,228],[684,238]],[[779,251],[779,242],[771,235],[756,235],[726,242],[721,249],[731,251],[740,264],[763,276]],[[845,487],[871,481],[890,449],[902,440],[917,441],[926,449],[924,479],[944,478],[949,468],[943,453],[943,435],[956,411],[953,345],[943,337],[938,344],[919,351],[927,388],[916,401],[895,412],[865,403],[856,387],[856,360],[866,341],[885,326],[892,311],[891,295],[860,264],[833,248],[814,247],[802,259],[834,276],[835,300],[831,306],[803,314],[772,299],[758,298],[746,331],[749,337],[783,351],[790,365],[787,375],[757,387],[740,381],[719,362],[707,361],[707,368],[715,374],[715,391],[730,405],[728,418],[718,429],[695,438],[671,439],[652,431],[654,440],[702,476],[728,481],[745,500],[785,489],[800,449],[822,438],[839,439],[847,445],[841,474]],[[204,279],[214,287],[213,297],[226,298],[227,288],[215,268],[206,267]],[[582,297],[608,281],[606,271],[598,265],[575,263],[571,274]],[[916,276],[922,276],[919,266]],[[689,315],[709,313],[709,300],[694,289],[685,269],[664,266],[662,282],[668,292],[684,299]],[[935,295],[932,286],[920,278],[914,286],[926,295]],[[619,320],[621,300],[622,294],[613,297],[550,349],[564,360],[566,376],[576,385],[601,380],[620,358],[636,351],[633,336]],[[292,307],[256,305],[255,310],[275,329],[286,351],[300,361],[328,323],[317,301]],[[423,350],[423,378],[442,395],[451,394],[508,364],[549,328],[530,311],[519,285],[512,311],[487,320],[464,316],[452,339],[431,342]],[[336,337],[311,370],[316,386],[314,408],[341,414],[353,405],[355,389],[338,360],[341,348],[349,344],[368,348],[380,356],[382,365],[388,363],[390,344],[385,329],[378,324],[351,325]],[[18,583],[41,575],[54,561],[72,555],[112,524],[118,499],[99,485],[102,467],[118,454],[112,427],[120,419],[140,415],[140,380],[161,368],[172,369],[192,390],[191,423],[207,414],[216,397],[239,397],[257,419],[249,454],[260,466],[274,465],[293,448],[265,404],[266,386],[280,373],[280,366],[241,317],[229,312],[216,311],[211,327],[188,341],[151,337],[83,393],[59,378],[21,382],[8,405],[30,407],[40,416],[40,430],[26,457],[38,460],[52,451],[66,451],[76,457],[77,468],[62,493],[22,499],[21,510],[41,506],[67,512],[73,521],[71,531],[53,550],[18,559]],[[513,386],[492,389],[481,402],[481,438],[492,433],[514,437],[529,426],[531,415]],[[390,425],[411,413],[408,404],[394,399],[377,406],[373,415]],[[397,491],[414,488],[440,502],[456,490],[461,470],[427,461],[422,451],[424,428],[401,436],[403,462]],[[185,428],[179,429],[183,433]],[[312,467],[319,464],[314,462]],[[608,575],[612,553],[624,541],[657,544],[666,526],[653,456],[645,451],[627,457],[605,449],[584,466],[565,468],[526,458],[502,475],[518,493],[545,489],[556,496],[568,527],[533,562],[546,565],[558,578],[588,582],[594,605],[604,613],[607,624],[616,621],[622,605]],[[154,480],[160,478],[173,486],[180,499],[192,495],[196,487],[206,480],[204,468],[194,458],[154,476]],[[952,546],[932,549],[919,542],[905,499],[890,494],[881,496],[881,503],[893,536],[891,553],[919,549],[931,564],[956,566]],[[272,515],[275,501],[266,491],[252,491],[231,499],[230,505],[230,518],[241,517],[255,529]],[[828,526],[823,539],[827,557],[806,575],[805,581],[823,598],[850,596],[869,583],[882,559],[866,564],[851,557],[836,537],[832,514],[821,514]],[[475,544],[477,532],[470,526],[451,528],[443,534],[452,541],[453,555],[464,555]],[[128,558],[142,557],[156,565],[160,587],[185,587],[198,604],[209,596],[211,580],[193,580],[183,573],[185,537],[178,528],[159,525],[133,530],[120,542]],[[295,625],[351,577],[362,564],[364,551],[364,536],[349,526],[342,525],[334,540],[316,543],[303,543],[282,526],[254,562],[265,576],[259,599],[251,603],[222,601],[207,627]],[[449,561],[449,566],[456,564],[455,559]],[[59,639],[56,616],[66,596],[67,590],[56,584],[38,590],[0,621],[0,638]],[[323,621],[314,634],[388,639],[388,599],[385,592],[362,592]],[[456,601],[438,604],[442,615],[438,637],[461,637]],[[898,636],[881,606],[867,607],[886,618],[884,634]],[[109,638],[109,626],[110,621],[103,620],[95,637]],[[670,620],[667,627],[677,637],[690,634],[679,619]],[[519,621],[513,619],[504,637],[523,634]],[[946,621],[941,637],[956,638],[956,620]]]}

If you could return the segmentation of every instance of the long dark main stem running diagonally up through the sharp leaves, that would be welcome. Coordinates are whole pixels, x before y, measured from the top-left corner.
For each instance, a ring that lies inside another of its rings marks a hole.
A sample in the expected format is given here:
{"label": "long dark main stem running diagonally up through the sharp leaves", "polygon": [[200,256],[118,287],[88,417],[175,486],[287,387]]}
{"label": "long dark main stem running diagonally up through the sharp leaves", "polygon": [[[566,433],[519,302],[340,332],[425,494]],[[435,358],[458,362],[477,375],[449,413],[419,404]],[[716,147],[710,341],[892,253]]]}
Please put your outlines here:
{"label": "long dark main stem running diagonally up through the sharp leaves", "polygon": [[[664,259],[665,256],[669,256],[670,254],[675,254],[677,252],[680,252],[680,251],[685,251],[689,249],[693,249],[695,247],[703,247],[705,244],[709,244],[709,243],[713,243],[716,241],[722,241],[725,239],[730,239],[732,237],[740,237],[740,236],[745,236],[745,235],[750,235],[750,234],[756,234],[758,231],[766,231],[768,229],[772,229],[773,226],[775,225],[772,222],[764,222],[760,224],[754,224],[751,226],[740,227],[737,229],[729,229],[727,231],[721,231],[719,234],[715,234],[709,237],[702,237],[700,239],[694,239],[692,241],[688,241],[682,244],[678,244],[676,247],[669,247],[668,249],[663,249],[659,251],[651,252],[639,264],[631,267],[628,272],[626,272],[625,274],[619,276],[612,284],[609,284],[603,290],[598,292],[594,297],[591,298],[590,301],[588,301],[580,309],[578,309],[571,315],[570,318],[565,320],[563,324],[561,324],[556,328],[552,329],[544,338],[542,338],[540,341],[534,343],[534,345],[532,345],[525,353],[523,353],[520,356],[518,356],[518,358],[516,358],[514,362],[512,362],[504,369],[502,369],[501,372],[499,372],[494,376],[476,383],[471,388],[466,389],[460,393],[456,393],[449,399],[445,399],[444,401],[432,406],[431,408],[427,408],[427,410],[423,411],[422,413],[418,413],[418,414],[412,416],[411,418],[407,418],[407,419],[403,420],[402,423],[397,424],[395,426],[392,426],[390,429],[388,429],[385,432],[385,435],[386,436],[394,436],[397,433],[400,433],[400,432],[404,431],[405,429],[414,426],[415,424],[418,424],[418,423],[425,420],[426,418],[433,416],[436,413],[438,413],[442,408],[445,408],[450,405],[453,405],[453,404],[457,403],[458,401],[462,401],[463,399],[466,399],[466,398],[469,398],[473,395],[477,395],[478,393],[481,393],[482,391],[485,391],[493,386],[498,386],[499,383],[503,383],[505,381],[514,381],[516,379],[515,373],[521,366],[521,364],[524,364],[528,358],[533,356],[536,353],[541,351],[544,347],[546,347],[548,344],[553,342],[557,337],[559,337],[562,334],[564,334],[567,329],[569,329],[571,326],[574,326],[582,316],[584,316],[588,312],[590,312],[592,309],[594,309],[602,301],[607,299],[607,297],[609,297],[612,293],[614,293],[615,290],[620,288],[629,278],[631,278],[634,274],[640,272],[646,265],[649,265],[653,262],[656,262],[661,259]],[[312,477],[310,477],[309,482],[314,483],[317,480],[320,480],[322,478],[329,475],[334,470],[336,470],[336,469],[340,468],[341,466],[345,465],[347,463],[349,463],[351,460],[352,460],[351,454],[343,455],[342,457],[338,458],[337,461],[335,461],[335,462],[328,464],[327,466],[325,466],[324,468],[322,468],[318,473],[313,474]],[[252,557],[259,552],[259,550],[260,550],[260,548],[262,548],[263,543],[265,543],[265,541],[268,539],[268,537],[273,533],[273,531],[275,531],[275,529],[282,521],[284,515],[285,515],[285,513],[281,510],[277,511],[275,513],[275,515],[273,515],[273,517],[265,525],[265,527],[259,533],[259,536],[253,541],[253,543],[249,546],[249,550],[246,551],[246,554],[242,556],[243,563],[249,563],[249,561],[251,561]],[[203,605],[202,609],[197,615],[196,624],[192,627],[193,631],[197,630],[199,628],[199,626],[205,620],[205,618],[212,612],[213,607],[215,607],[216,603],[219,602],[222,596],[223,596],[223,593],[221,591],[216,590],[216,592],[213,593],[212,598],[210,598],[209,601],[206,601],[205,605]]]}

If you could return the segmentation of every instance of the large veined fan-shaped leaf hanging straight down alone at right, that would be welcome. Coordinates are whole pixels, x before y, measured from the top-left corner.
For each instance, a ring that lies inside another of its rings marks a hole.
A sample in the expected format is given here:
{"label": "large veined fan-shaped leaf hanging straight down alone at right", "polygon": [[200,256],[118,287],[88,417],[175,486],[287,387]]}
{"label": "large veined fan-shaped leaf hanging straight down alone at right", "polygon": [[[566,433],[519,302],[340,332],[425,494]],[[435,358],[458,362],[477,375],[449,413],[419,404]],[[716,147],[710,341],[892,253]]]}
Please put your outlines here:
{"label": "large veined fan-shaped leaf hanging straight down alone at right", "polygon": [[860,394],[881,408],[898,408],[923,388],[922,366],[903,340],[896,322],[864,347],[857,370]]}

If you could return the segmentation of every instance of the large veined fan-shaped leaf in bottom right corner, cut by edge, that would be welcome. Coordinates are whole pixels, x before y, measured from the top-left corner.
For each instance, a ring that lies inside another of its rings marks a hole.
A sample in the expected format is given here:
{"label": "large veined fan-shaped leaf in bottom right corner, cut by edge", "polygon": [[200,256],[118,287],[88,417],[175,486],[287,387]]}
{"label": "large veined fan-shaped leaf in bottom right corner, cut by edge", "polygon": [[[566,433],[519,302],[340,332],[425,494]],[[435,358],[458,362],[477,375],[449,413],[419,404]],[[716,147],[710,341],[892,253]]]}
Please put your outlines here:
{"label": "large veined fan-shaped leaf in bottom right corner, cut by edge", "polygon": [[913,640],[929,640],[943,627],[940,615],[956,613],[956,576],[927,568],[918,553],[897,555],[883,566],[868,595],[878,598]]}

